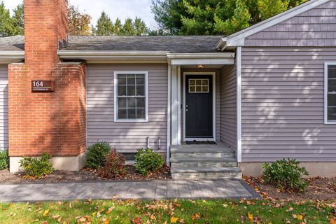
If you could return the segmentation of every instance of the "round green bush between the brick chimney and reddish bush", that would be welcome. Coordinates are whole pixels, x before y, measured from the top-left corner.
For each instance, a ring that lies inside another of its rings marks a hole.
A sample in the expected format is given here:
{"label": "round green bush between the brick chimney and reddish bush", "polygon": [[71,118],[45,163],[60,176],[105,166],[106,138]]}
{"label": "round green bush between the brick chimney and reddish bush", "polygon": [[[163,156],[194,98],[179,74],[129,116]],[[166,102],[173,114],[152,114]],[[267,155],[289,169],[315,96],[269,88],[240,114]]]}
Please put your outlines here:
{"label": "round green bush between the brick chimney and reddish bush", "polygon": [[91,169],[104,167],[105,157],[111,149],[112,146],[105,141],[100,141],[89,146],[85,155],[85,167]]}

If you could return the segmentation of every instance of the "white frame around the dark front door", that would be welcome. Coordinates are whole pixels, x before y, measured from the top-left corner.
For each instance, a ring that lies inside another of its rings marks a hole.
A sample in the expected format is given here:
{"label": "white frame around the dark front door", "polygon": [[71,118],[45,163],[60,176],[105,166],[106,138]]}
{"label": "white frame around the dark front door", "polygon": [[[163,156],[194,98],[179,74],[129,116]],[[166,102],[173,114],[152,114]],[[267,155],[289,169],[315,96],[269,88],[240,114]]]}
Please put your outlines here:
{"label": "white frame around the dark front door", "polygon": [[[211,75],[212,76],[212,138],[186,138],[186,76]],[[193,71],[183,72],[183,141],[216,141],[216,72]]]}

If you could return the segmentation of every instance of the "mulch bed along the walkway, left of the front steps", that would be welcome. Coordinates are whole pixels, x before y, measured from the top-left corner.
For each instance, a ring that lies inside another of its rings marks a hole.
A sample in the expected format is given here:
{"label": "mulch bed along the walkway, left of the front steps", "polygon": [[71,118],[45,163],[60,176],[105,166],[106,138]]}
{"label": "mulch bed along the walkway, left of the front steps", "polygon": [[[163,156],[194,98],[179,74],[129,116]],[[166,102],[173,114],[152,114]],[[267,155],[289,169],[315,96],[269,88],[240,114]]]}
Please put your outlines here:
{"label": "mulch bed along the walkway, left of the front steps", "polygon": [[[148,176],[141,176],[138,174],[132,165],[125,166],[127,173],[119,180],[156,180],[156,179],[171,179],[169,167],[164,167],[158,172],[149,174]],[[25,179],[22,176],[25,174],[17,173],[10,174],[8,169],[0,170],[0,184],[16,184],[16,183],[64,183],[64,182],[92,182],[92,181],[106,181],[98,176],[97,172],[90,169],[82,169],[78,172],[56,171],[53,174],[45,176],[43,179]]]}

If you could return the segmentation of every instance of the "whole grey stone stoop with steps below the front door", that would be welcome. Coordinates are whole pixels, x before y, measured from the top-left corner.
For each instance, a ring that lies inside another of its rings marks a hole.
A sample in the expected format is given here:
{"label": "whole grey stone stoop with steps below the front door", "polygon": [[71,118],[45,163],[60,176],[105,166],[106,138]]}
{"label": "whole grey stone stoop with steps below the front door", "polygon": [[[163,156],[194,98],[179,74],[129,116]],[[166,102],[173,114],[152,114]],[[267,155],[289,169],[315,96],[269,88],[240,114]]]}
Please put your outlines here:
{"label": "whole grey stone stoop with steps below the front door", "polygon": [[172,179],[241,179],[235,152],[223,144],[171,146]]}

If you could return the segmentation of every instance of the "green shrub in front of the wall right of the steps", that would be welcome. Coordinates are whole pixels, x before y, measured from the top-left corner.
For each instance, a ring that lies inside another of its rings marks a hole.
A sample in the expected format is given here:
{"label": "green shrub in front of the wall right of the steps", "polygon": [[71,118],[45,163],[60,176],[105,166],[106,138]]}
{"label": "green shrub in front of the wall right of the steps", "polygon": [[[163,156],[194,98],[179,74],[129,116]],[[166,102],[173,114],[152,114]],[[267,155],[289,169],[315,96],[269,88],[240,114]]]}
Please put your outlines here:
{"label": "green shrub in front of the wall right of the steps", "polygon": [[304,191],[307,182],[302,175],[309,175],[307,169],[300,167],[300,162],[295,159],[282,159],[262,165],[264,172],[263,179],[282,191]]}

